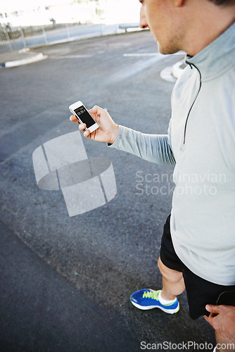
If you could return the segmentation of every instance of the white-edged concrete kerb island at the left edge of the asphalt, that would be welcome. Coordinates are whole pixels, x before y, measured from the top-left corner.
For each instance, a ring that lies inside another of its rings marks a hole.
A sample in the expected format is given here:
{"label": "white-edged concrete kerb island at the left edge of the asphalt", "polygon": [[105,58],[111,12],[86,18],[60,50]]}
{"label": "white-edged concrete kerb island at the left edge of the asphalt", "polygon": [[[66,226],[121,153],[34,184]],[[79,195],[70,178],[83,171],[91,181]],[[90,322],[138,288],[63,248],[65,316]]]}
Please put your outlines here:
{"label": "white-edged concrete kerb island at the left edge of the asphalt", "polygon": [[42,53],[31,51],[30,49],[21,49],[20,51],[8,51],[0,54],[0,68],[10,68],[14,66],[26,65],[47,58]]}

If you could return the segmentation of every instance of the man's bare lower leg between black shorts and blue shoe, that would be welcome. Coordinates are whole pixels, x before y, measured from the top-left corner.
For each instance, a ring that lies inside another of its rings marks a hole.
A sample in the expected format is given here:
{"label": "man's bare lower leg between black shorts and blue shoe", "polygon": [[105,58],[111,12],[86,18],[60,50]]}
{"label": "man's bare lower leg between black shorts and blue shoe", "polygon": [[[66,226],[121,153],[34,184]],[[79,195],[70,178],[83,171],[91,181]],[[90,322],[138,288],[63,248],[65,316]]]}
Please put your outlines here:
{"label": "man's bare lower leg between black shorts and blue shoe", "polygon": [[167,268],[160,258],[158,259],[158,268],[163,275],[163,290],[161,291],[161,296],[163,299],[171,301],[176,298],[177,295],[182,294],[185,289],[182,272]]}

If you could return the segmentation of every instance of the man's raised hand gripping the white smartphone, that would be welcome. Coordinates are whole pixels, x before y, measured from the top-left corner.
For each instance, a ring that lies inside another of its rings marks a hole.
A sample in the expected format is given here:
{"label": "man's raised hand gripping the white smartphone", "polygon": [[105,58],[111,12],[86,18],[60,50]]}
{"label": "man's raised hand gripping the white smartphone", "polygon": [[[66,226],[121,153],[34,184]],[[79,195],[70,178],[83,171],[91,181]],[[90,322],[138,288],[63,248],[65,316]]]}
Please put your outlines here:
{"label": "man's raised hand gripping the white smartphone", "polygon": [[[84,132],[84,137],[93,139],[99,142],[114,143],[115,139],[118,137],[118,125],[112,120],[108,111],[99,108],[99,106],[94,106],[89,110],[91,116],[96,120],[99,128],[94,132],[89,130]],[[75,118],[75,116],[70,116],[70,121],[78,123],[80,131],[84,131],[87,127],[85,123],[81,123]]]}

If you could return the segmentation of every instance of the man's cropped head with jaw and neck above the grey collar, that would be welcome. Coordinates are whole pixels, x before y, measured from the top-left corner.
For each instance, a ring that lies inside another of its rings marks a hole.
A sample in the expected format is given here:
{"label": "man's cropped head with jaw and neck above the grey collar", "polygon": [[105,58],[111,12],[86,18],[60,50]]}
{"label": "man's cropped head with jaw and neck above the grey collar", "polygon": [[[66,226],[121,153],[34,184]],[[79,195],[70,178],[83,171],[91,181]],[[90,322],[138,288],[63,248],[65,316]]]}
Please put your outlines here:
{"label": "man's cropped head with jaw and neck above the grey collar", "polygon": [[196,55],[235,20],[235,0],[139,0],[140,27],[149,27],[162,54]]}

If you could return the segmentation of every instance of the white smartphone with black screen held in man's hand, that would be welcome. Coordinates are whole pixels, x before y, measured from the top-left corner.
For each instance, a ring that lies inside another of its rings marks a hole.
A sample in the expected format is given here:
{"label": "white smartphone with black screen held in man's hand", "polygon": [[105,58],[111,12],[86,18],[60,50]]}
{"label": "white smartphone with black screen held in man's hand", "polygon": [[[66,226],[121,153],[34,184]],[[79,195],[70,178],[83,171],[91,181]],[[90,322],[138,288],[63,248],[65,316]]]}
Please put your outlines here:
{"label": "white smartphone with black screen held in man's hand", "polygon": [[75,115],[77,120],[80,123],[85,123],[87,125],[86,130],[94,132],[99,127],[98,123],[92,118],[91,114],[87,111],[87,108],[84,107],[82,101],[77,101],[69,107],[72,115]]}

